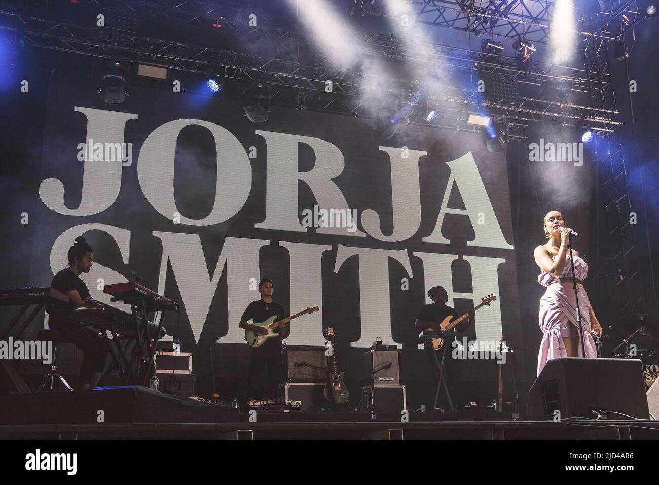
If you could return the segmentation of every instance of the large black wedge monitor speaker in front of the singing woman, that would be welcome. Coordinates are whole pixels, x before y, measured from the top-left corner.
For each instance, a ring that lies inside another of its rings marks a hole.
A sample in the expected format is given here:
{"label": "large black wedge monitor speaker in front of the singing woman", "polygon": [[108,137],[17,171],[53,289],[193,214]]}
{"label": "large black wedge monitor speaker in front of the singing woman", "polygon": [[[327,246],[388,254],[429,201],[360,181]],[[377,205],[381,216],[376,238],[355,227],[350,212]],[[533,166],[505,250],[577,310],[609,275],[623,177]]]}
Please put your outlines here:
{"label": "large black wedge monitor speaker in front of the singing woman", "polygon": [[531,386],[528,410],[529,420],[594,418],[602,411],[610,420],[648,419],[643,364],[638,359],[552,359]]}

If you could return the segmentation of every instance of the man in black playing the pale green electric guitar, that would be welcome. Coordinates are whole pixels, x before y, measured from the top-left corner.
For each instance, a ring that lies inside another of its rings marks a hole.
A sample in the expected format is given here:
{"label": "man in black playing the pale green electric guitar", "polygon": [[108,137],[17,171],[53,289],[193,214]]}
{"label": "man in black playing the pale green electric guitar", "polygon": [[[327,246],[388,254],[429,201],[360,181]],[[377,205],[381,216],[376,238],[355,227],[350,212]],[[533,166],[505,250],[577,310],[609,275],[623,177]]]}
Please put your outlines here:
{"label": "man in black playing the pale green electric guitar", "polygon": [[[267,334],[268,331],[264,327],[258,325],[251,325],[247,323],[248,320],[254,323],[261,323],[266,321],[272,315],[277,315],[277,321],[286,318],[284,307],[272,301],[272,280],[270,278],[262,278],[258,282],[258,292],[261,294],[260,300],[250,303],[245,309],[239,327],[245,330],[254,330],[260,334]],[[277,397],[277,385],[279,384],[279,373],[281,371],[281,339],[286,333],[286,325],[281,325],[279,332],[282,337],[279,339],[268,339],[264,344],[259,347],[252,347],[250,354],[250,368],[247,377],[247,399],[254,399],[256,392],[254,387],[256,379],[261,373],[264,364],[268,364],[268,399],[275,399]]]}

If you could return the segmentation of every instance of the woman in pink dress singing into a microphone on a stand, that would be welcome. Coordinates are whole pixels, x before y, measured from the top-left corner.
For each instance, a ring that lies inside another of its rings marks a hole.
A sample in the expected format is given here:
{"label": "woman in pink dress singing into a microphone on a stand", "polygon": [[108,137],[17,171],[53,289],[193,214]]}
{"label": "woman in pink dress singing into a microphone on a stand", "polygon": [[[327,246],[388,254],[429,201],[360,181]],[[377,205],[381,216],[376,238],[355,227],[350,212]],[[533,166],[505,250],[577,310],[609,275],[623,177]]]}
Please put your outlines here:
{"label": "woman in pink dress singing into a microphone on a stand", "polygon": [[[572,230],[565,227],[563,215],[558,210],[548,212],[542,222],[544,235],[549,241],[536,247],[533,252],[536,264],[542,270],[538,282],[547,287],[540,298],[538,315],[540,329],[544,333],[538,353],[538,375],[548,360],[559,357],[583,357],[577,327],[574,280],[571,277],[572,264],[567,251],[569,234]],[[586,357],[596,358],[597,351],[592,337],[601,337],[602,327],[595,317],[582,284],[588,273],[588,265],[577,251],[572,249],[572,253]]]}

